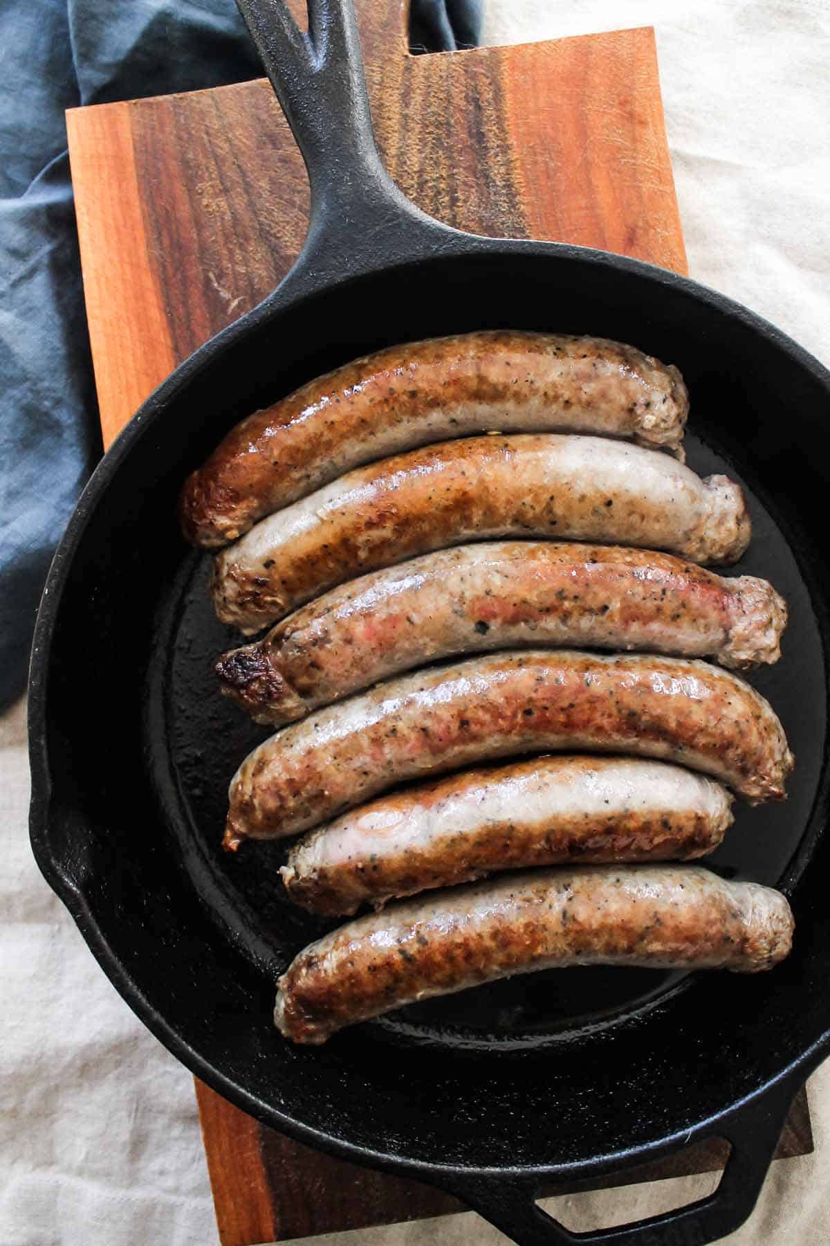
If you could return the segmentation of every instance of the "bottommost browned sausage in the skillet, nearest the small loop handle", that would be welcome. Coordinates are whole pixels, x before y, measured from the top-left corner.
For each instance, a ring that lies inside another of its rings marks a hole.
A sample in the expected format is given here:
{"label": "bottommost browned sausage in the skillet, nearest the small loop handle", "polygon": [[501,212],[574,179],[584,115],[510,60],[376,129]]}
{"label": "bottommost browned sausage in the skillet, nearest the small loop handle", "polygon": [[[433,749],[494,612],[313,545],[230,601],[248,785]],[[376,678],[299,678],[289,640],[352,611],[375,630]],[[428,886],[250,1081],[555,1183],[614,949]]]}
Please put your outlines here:
{"label": "bottommost browned sausage in the skillet, nearest the small loop handle", "polygon": [[274,1022],[295,1043],[325,1043],[343,1025],[514,973],[577,964],[757,973],[791,939],[784,896],[701,866],[531,870],[347,922],[291,962]]}

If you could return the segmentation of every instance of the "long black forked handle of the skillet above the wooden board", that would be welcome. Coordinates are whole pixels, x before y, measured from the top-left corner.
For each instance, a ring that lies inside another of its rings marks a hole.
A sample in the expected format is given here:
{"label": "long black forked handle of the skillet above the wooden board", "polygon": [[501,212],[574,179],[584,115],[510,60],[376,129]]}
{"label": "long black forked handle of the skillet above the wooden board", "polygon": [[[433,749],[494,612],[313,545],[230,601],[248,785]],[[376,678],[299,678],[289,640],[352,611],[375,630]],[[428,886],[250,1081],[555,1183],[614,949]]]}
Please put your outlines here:
{"label": "long black forked handle of the skillet above the wooden board", "polygon": [[286,280],[320,285],[465,237],[417,208],[375,141],[353,0],[236,0],[309,171],[309,232]]}

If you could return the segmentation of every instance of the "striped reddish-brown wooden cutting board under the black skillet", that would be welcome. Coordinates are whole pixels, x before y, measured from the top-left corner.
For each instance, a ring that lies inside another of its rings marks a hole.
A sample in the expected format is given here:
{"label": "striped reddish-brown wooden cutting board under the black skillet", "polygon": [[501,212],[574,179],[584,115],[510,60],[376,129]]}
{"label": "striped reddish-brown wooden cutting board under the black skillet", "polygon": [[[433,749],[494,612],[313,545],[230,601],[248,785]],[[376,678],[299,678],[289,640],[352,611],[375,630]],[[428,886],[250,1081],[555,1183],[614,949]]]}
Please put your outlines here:
{"label": "striped reddish-brown wooden cutting board under the black skillet", "polygon": [[[651,29],[411,56],[407,0],[356,6],[380,146],[416,203],[462,229],[686,272]],[[108,445],[182,359],[285,274],[307,179],[265,81],[76,108],[67,130]],[[199,1082],[197,1095],[223,1246],[459,1210],[292,1143]],[[811,1149],[801,1095],[779,1154]],[[579,1189],[709,1171],[724,1155],[703,1144]]]}

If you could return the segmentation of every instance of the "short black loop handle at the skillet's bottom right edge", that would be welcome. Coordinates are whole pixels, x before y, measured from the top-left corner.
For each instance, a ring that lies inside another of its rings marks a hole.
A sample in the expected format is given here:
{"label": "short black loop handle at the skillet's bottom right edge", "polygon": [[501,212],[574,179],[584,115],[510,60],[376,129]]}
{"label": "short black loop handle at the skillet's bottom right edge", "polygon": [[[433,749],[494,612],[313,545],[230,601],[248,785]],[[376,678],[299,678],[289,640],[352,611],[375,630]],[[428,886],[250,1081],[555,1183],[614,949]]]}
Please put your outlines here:
{"label": "short black loop handle at the skillet's bottom right edge", "polygon": [[732,1154],[714,1194],[661,1216],[615,1229],[575,1234],[538,1207],[538,1190],[494,1177],[444,1186],[506,1234],[518,1246],[706,1246],[720,1241],[750,1215],[801,1078],[788,1078],[743,1104],[723,1123],[693,1135],[727,1138]]}

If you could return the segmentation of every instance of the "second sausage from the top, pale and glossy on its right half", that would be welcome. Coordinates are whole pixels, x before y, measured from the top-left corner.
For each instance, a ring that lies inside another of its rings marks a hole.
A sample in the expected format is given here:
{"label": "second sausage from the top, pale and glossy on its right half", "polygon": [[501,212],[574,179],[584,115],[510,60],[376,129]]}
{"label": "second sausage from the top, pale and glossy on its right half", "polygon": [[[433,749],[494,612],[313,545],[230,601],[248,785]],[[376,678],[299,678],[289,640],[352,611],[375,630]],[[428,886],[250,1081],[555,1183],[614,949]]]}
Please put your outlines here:
{"label": "second sausage from the top, pale and glossy on its right half", "polygon": [[361,467],[217,556],[223,623],[256,632],[335,584],[488,537],[554,537],[734,562],[750,521],[725,476],[604,437],[469,437]]}

